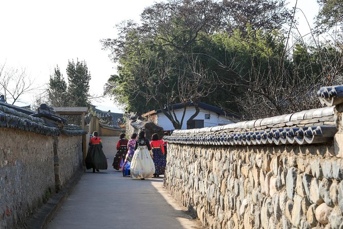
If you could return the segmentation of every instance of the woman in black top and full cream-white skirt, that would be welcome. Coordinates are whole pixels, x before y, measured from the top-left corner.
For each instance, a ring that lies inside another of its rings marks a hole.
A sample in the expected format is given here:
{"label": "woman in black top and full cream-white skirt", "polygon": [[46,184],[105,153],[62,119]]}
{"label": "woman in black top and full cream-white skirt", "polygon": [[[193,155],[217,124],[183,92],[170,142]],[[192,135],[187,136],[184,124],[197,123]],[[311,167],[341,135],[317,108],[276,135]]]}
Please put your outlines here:
{"label": "woman in black top and full cream-white skirt", "polygon": [[149,140],[145,138],[145,132],[140,131],[135,144],[135,152],[131,161],[131,179],[151,178],[155,173],[154,158]]}

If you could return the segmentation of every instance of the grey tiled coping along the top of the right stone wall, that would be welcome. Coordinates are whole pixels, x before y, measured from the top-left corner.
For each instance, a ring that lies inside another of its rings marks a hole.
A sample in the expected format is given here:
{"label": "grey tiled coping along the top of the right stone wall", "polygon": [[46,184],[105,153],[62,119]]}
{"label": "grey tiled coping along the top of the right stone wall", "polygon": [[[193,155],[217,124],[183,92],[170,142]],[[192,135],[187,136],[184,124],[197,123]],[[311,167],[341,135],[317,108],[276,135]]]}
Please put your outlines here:
{"label": "grey tiled coping along the top of the right stone wall", "polygon": [[310,144],[327,142],[337,132],[334,107],[201,129],[174,130],[170,143],[205,145]]}

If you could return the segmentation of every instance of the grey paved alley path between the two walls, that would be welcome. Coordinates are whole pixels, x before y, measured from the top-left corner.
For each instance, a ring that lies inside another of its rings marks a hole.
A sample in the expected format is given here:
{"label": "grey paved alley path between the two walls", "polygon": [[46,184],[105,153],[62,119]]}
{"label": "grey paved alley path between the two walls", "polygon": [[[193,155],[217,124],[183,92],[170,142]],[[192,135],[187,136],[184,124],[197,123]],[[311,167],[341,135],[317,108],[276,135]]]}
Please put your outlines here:
{"label": "grey paved alley path between the two walls", "polygon": [[59,208],[54,228],[204,228],[163,188],[163,178],[131,180],[113,169],[118,138],[103,137],[108,169],[89,169]]}

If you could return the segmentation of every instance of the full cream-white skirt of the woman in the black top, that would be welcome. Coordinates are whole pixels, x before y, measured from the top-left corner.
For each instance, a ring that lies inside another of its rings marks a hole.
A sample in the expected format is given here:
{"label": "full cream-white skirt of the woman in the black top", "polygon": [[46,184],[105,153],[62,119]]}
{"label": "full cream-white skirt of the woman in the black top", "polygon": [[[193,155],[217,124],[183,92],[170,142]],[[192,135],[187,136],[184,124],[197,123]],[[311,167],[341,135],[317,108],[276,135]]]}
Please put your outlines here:
{"label": "full cream-white skirt of the woman in the black top", "polygon": [[155,165],[147,146],[138,146],[131,161],[131,179],[151,178],[155,173]]}

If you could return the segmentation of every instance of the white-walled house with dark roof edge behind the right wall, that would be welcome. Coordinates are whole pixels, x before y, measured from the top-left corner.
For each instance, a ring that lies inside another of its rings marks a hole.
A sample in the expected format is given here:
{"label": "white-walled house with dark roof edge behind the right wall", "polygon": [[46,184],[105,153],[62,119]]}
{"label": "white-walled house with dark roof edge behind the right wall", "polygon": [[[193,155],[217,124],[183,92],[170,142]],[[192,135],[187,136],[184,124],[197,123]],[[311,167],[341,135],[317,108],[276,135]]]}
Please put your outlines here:
{"label": "white-walled house with dark roof edge behind the right wall", "polygon": [[[222,109],[211,106],[206,103],[198,102],[200,112],[198,115],[190,122],[187,126],[187,120],[195,113],[195,107],[193,102],[187,104],[186,113],[182,129],[194,129],[203,128],[211,126],[226,125],[234,123],[234,120],[239,119],[238,116],[232,113],[223,111]],[[184,113],[184,104],[174,104],[172,105],[174,112],[178,121],[181,121],[182,115]],[[165,108],[166,109],[166,108]],[[171,110],[171,106],[169,108]],[[148,121],[154,122],[156,125],[163,127],[164,130],[175,129],[171,121],[165,116],[162,110],[152,110],[148,113],[142,115],[142,117],[147,118]]]}

